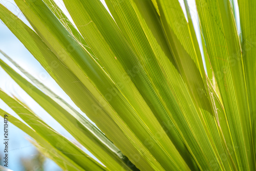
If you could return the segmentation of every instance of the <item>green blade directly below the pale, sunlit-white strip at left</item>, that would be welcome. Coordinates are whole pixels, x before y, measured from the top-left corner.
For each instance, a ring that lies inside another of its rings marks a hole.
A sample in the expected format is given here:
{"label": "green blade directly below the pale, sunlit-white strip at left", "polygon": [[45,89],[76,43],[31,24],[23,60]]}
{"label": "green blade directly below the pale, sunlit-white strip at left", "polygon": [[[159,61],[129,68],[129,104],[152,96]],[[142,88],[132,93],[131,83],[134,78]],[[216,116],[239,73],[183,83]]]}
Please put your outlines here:
{"label": "green blade directly below the pale, sunlit-white strip at left", "polygon": [[[78,115],[79,119],[72,116],[53,99],[38,90],[25,78],[18,75],[1,59],[0,66],[22,89],[28,93],[30,97],[32,97],[46,112],[48,112],[58,123],[60,123],[79,143],[81,143],[81,145],[86,147],[93,155],[102,161],[102,163],[105,163],[105,165],[110,169],[121,169],[124,167],[125,169],[129,170],[129,167],[125,167],[125,163],[120,157],[117,156],[118,154],[111,151],[111,148],[106,146],[104,141],[95,136],[96,132],[93,132],[93,129],[96,128],[93,128],[93,125],[91,125],[91,130],[89,130],[87,127],[85,127],[86,125],[80,121],[83,120],[81,116],[79,117]],[[98,132],[98,134],[102,133]],[[106,137],[105,140],[108,141]]]}

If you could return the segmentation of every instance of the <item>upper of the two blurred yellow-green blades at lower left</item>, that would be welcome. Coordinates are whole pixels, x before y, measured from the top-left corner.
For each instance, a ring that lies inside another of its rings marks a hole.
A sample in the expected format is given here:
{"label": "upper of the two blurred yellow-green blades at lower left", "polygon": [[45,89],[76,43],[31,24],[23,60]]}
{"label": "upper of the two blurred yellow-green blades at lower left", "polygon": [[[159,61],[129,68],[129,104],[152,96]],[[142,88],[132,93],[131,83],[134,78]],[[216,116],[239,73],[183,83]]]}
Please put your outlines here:
{"label": "upper of the two blurred yellow-green blades at lower left", "polygon": [[3,91],[0,91],[0,98],[9,105],[20,118],[29,124],[36,133],[41,137],[44,137],[47,142],[58,149],[58,151],[67,158],[74,161],[80,168],[83,168],[84,170],[106,170],[105,167],[89,157],[74,143],[71,143],[68,139],[56,133],[49,125],[42,121],[22,103],[16,101]]}

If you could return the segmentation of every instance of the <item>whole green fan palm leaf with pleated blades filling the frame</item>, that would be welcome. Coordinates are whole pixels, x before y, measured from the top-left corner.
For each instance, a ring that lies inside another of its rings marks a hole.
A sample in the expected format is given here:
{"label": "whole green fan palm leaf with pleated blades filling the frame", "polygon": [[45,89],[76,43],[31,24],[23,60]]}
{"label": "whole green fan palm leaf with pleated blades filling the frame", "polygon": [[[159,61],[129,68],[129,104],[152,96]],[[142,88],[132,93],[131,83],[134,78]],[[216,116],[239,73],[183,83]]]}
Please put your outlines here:
{"label": "whole green fan palm leaf with pleated blades filling the frame", "polygon": [[[239,1],[234,16],[233,1],[196,0],[203,55],[187,1],[106,0],[110,14],[99,0],[63,0],[74,25],[52,0],[15,3],[33,30],[3,5],[0,19],[100,130],[0,51],[41,90],[1,67],[106,166],[1,91],[33,130],[14,124],[63,169],[255,170],[255,3]],[[81,159],[48,152],[56,137]]]}

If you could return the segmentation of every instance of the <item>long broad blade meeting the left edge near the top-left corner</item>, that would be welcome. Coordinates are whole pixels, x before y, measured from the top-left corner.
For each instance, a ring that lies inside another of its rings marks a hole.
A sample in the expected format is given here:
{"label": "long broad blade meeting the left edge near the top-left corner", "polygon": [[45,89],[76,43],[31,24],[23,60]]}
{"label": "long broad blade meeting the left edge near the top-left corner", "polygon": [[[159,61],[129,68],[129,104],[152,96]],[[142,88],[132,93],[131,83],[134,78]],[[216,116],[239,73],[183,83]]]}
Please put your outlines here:
{"label": "long broad blade meeting the left edge near the top-left corner", "polygon": [[[147,149],[116,115],[111,106],[105,102],[105,99],[100,94],[94,94],[93,96],[81,81],[62,65],[62,62],[49,50],[36,33],[5,7],[1,6],[1,8],[1,19],[9,29],[23,42],[77,106],[98,125],[100,130],[104,130],[106,136],[114,141],[119,148],[122,146],[122,152],[129,156],[133,163],[138,163],[138,166],[141,165],[148,169],[156,167],[156,164],[154,164],[156,161],[151,159],[152,156]],[[95,90],[94,87],[91,89]],[[97,91],[94,93],[97,93]],[[111,117],[114,117],[115,121]]]}

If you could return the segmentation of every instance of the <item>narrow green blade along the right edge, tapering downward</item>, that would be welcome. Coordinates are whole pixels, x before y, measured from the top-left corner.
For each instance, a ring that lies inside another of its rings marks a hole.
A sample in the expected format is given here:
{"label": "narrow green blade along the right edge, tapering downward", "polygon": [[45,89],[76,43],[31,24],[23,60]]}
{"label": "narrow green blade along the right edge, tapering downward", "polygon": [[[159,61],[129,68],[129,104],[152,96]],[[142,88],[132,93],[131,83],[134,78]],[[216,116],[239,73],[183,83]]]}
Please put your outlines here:
{"label": "narrow green blade along the right edge, tapering downward", "polygon": [[[242,56],[244,64],[244,72],[247,86],[248,102],[250,106],[250,116],[251,116],[251,126],[252,126],[252,136],[254,144],[254,152],[256,149],[256,18],[255,9],[256,3],[254,1],[238,1],[239,13],[240,13],[240,23],[242,31]],[[238,16],[237,16],[238,17]],[[254,163],[256,162],[254,153]]]}

